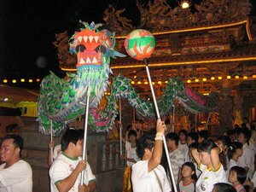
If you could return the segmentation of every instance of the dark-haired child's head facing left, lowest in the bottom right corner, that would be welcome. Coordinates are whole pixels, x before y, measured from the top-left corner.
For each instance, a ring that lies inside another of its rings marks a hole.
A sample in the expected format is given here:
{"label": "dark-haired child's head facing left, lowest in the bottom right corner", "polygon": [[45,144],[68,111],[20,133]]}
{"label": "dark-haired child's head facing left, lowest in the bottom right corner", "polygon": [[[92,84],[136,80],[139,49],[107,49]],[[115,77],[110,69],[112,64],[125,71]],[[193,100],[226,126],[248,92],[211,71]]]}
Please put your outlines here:
{"label": "dark-haired child's head facing left, lowest in the bottom right corner", "polygon": [[237,192],[246,192],[242,184],[247,179],[247,173],[241,166],[232,166],[230,169],[229,182],[233,184]]}

